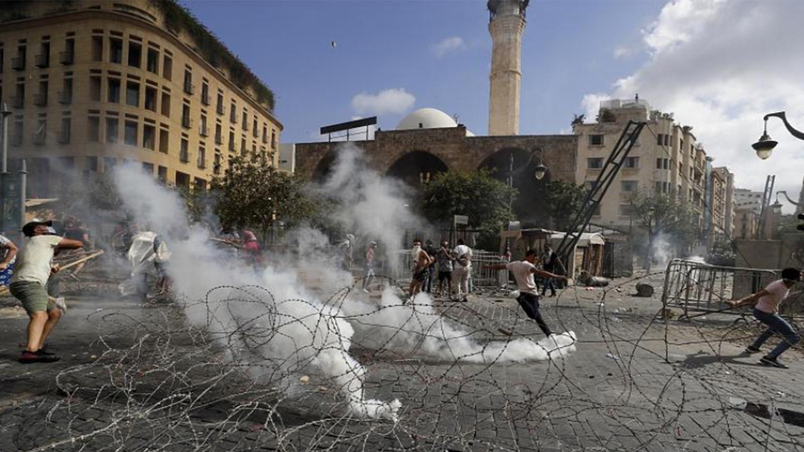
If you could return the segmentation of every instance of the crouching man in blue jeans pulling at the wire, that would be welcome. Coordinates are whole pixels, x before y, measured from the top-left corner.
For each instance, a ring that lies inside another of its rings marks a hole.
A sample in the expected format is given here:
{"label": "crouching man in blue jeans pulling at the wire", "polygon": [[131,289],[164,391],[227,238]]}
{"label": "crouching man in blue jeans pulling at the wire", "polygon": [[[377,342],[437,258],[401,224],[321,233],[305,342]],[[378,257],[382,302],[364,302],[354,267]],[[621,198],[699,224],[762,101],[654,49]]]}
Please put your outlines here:
{"label": "crouching man in blue jeans pulling at the wire", "polygon": [[768,286],[765,286],[765,289],[760,290],[756,294],[741,298],[740,300],[727,302],[734,307],[754,305],[754,317],[768,326],[768,328],[759,335],[757,340],[745,349],[746,352],[757,353],[760,351],[762,344],[765,343],[773,333],[784,336],[784,339],[773,348],[770,353],[762,357],[760,360],[762,364],[786,369],[787,366],[779,362],[778,357],[788,348],[797,344],[801,339],[798,332],[790,326],[790,323],[787,323],[785,319],[781,318],[781,315],[779,315],[779,304],[790,294],[790,287],[793,287],[796,282],[801,281],[801,278],[802,273],[798,269],[783,269],[781,270],[781,279],[771,282]]}

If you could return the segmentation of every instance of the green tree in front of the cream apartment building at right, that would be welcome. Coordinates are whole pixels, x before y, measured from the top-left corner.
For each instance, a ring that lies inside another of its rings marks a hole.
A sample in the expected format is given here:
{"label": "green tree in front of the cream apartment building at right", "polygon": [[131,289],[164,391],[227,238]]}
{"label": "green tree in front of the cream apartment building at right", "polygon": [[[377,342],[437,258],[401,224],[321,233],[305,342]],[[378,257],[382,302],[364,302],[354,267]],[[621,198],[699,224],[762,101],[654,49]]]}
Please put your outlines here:
{"label": "green tree in front of the cream apartment building at right", "polygon": [[661,234],[676,249],[689,249],[699,236],[698,216],[690,203],[671,195],[631,196],[631,215],[634,224],[647,233],[647,247],[643,268],[650,268],[654,257],[654,244]]}

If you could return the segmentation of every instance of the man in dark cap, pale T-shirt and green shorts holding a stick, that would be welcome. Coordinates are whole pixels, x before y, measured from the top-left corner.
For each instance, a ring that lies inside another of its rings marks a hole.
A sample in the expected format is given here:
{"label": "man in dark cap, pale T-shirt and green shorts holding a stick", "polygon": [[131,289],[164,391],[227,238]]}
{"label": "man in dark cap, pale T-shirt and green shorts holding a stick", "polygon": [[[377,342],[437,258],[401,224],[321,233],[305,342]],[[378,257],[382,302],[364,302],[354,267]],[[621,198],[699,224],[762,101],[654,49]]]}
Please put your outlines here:
{"label": "man in dark cap, pale T-shirt and green shorts holding a stick", "polygon": [[23,226],[23,234],[28,240],[19,252],[14,277],[9,290],[14,298],[23,303],[23,308],[31,318],[28,323],[27,347],[19,357],[19,362],[52,363],[60,360],[58,355],[44,351],[47,336],[59,323],[62,311],[47,295],[47,279],[51,272],[59,271],[51,266],[56,249],[76,249],[83,244],[79,240],[65,239],[48,234],[50,221],[33,220]]}

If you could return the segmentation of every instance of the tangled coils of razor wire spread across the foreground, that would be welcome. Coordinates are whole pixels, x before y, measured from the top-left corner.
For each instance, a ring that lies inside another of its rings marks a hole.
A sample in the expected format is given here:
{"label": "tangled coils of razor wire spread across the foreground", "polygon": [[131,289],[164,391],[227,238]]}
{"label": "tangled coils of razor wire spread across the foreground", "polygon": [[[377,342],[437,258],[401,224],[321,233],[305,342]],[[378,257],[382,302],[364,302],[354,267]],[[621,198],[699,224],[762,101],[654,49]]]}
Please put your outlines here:
{"label": "tangled coils of razor wire spread across the foreground", "polygon": [[[578,351],[544,361],[470,362],[444,340],[448,328],[481,350],[542,339],[513,303],[371,298],[350,314],[362,281],[323,303],[222,286],[203,300],[99,310],[87,318],[105,327],[91,360],[58,372],[40,397],[2,405],[0,450],[804,449],[796,414],[804,385],[783,384],[789,374],[768,381],[727,351],[753,339],[755,325],[718,314],[676,323],[663,307],[611,307],[635,282],[661,275],[561,292],[543,312],[551,325],[576,331]],[[289,306],[305,314],[290,315]],[[361,336],[388,329],[373,324],[382,310],[410,317],[381,340]],[[358,331],[348,353],[362,375],[322,372],[323,355],[345,352],[333,318]],[[298,339],[287,337],[289,326],[309,340],[284,355],[269,351]],[[408,347],[395,342],[403,335]],[[580,355],[593,347],[594,355]],[[690,347],[707,353],[683,355]],[[355,380],[366,398],[399,399],[396,420],[351,409]]]}

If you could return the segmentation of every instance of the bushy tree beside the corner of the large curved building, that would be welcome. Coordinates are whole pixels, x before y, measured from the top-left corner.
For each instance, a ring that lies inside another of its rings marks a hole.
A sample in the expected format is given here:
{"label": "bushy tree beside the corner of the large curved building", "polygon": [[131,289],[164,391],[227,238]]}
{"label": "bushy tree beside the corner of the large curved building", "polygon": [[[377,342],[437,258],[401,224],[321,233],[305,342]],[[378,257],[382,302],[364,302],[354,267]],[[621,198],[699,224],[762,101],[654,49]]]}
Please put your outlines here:
{"label": "bushy tree beside the corner of the large curved building", "polygon": [[211,190],[213,212],[235,228],[263,228],[273,220],[294,223],[316,212],[301,179],[242,157],[232,158],[224,175],[212,179]]}

